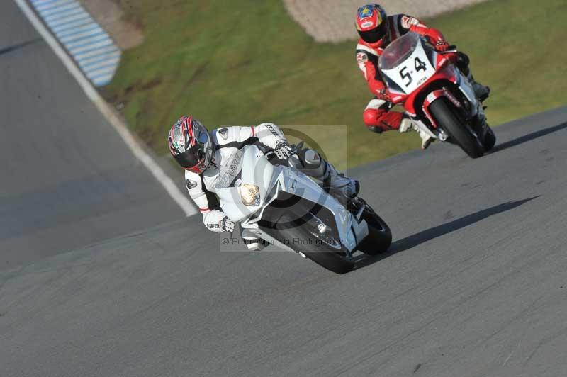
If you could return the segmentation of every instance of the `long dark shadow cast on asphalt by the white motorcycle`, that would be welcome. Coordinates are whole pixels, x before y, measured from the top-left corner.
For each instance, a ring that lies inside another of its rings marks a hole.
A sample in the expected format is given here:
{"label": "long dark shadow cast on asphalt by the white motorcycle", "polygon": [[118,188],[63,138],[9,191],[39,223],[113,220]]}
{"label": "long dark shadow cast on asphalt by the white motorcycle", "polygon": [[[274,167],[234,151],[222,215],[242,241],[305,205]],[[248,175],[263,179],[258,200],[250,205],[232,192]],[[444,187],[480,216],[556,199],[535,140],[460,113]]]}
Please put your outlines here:
{"label": "long dark shadow cast on asphalt by the white motorcycle", "polygon": [[454,232],[455,230],[459,230],[464,227],[467,227],[468,225],[478,223],[479,221],[484,220],[485,218],[489,218],[490,216],[498,215],[498,213],[503,213],[508,210],[512,210],[516,207],[522,206],[522,204],[524,203],[534,200],[535,198],[539,198],[539,196],[523,199],[522,201],[509,201],[506,203],[502,203],[499,204],[498,206],[493,206],[490,208],[486,208],[485,210],[480,210],[478,212],[471,213],[471,215],[466,215],[463,218],[458,218],[449,223],[437,225],[437,227],[430,227],[430,229],[422,230],[419,233],[415,233],[415,235],[410,235],[401,240],[397,240],[393,242],[388,252],[376,255],[376,257],[367,257],[363,255],[357,258],[356,269],[361,269],[371,264],[375,264],[376,262],[381,261],[382,259],[392,256],[393,254],[399,252],[405,252],[405,250],[412,249],[413,247],[419,246],[422,243],[425,243],[430,240],[434,240],[437,237],[442,237],[444,235],[447,235],[448,233]]}

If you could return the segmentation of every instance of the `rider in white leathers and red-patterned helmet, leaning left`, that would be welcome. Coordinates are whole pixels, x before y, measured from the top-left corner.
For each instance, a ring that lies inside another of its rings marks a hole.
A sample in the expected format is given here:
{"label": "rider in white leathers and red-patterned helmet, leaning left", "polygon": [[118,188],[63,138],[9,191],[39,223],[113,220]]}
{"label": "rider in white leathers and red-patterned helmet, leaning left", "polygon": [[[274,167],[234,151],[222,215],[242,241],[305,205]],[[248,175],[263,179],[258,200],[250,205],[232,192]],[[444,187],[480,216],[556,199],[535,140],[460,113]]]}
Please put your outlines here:
{"label": "rider in white leathers and red-patterned helmet, leaning left", "polygon": [[[320,157],[318,152],[291,149],[285,135],[277,125],[262,123],[251,127],[224,127],[208,130],[191,116],[181,117],[169,130],[167,139],[169,152],[185,169],[185,184],[189,196],[203,215],[203,223],[213,232],[232,232],[234,223],[218,206],[214,195],[215,184],[222,167],[230,165],[232,156],[240,148],[256,144],[266,150],[273,150],[276,157],[287,161],[296,169],[321,182],[331,195],[352,198],[359,191],[359,183],[343,174]],[[242,239],[251,250],[262,249],[266,242],[247,230]]]}

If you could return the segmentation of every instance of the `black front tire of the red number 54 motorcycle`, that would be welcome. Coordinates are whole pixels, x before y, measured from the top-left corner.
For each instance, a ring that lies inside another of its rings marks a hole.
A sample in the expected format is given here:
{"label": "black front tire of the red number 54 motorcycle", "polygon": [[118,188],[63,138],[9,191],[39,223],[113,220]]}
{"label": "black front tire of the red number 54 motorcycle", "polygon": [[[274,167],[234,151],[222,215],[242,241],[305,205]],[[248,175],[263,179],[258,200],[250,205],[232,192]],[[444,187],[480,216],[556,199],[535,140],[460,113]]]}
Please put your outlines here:
{"label": "black front tire of the red number 54 motorcycle", "polygon": [[444,98],[437,99],[431,104],[430,112],[449,135],[449,138],[456,145],[459,145],[469,157],[476,159],[484,154],[484,146],[481,145],[468,125],[459,120],[452,103],[449,104]]}

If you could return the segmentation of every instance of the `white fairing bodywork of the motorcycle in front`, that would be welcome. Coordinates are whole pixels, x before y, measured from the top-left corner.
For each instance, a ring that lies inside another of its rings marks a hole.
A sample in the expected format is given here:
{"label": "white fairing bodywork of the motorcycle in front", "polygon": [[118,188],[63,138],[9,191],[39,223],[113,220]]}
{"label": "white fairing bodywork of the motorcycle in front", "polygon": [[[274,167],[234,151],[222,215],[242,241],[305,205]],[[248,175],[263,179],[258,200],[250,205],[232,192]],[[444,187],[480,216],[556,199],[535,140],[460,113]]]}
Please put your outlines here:
{"label": "white fairing bodywork of the motorcycle in front", "polygon": [[[330,210],[335,215],[340,241],[349,251],[353,251],[357,246],[357,237],[361,240],[368,235],[368,225],[364,220],[359,223],[337,199],[327,194],[301,171],[272,165],[254,145],[247,145],[240,152],[242,152],[240,178],[231,176],[232,186],[218,186],[216,193],[223,212],[230,220],[240,223],[242,228],[251,230],[264,240],[274,241],[272,237],[259,230],[257,222],[262,219],[264,208],[277,198],[278,193],[285,191],[313,203],[319,203]],[[238,188],[242,184],[252,184],[259,188],[259,206],[245,206],[242,203]],[[283,249],[291,250],[283,244],[276,244]]]}

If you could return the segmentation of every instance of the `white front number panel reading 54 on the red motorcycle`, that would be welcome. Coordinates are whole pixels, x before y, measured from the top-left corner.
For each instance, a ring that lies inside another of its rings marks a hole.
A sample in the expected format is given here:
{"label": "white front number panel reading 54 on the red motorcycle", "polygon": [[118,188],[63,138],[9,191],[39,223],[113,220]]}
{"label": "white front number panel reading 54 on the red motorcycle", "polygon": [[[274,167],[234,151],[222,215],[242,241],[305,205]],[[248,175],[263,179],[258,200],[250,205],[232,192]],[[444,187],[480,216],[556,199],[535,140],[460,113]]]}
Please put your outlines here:
{"label": "white front number panel reading 54 on the red motorcycle", "polygon": [[381,72],[398,84],[405,94],[410,94],[435,74],[435,68],[425,54],[422,41],[415,38],[411,55],[391,69],[382,69]]}

